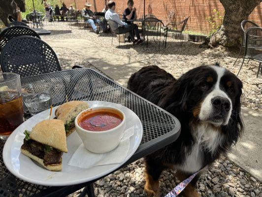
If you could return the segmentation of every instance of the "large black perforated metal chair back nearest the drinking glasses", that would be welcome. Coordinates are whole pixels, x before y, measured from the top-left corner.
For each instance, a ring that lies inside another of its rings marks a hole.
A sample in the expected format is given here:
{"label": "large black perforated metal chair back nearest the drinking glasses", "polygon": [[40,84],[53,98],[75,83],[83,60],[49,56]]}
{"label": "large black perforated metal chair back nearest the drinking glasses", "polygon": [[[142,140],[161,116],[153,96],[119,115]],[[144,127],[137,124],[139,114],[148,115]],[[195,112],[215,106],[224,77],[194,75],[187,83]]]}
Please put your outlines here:
{"label": "large black perforated metal chair back nearest the drinking glasses", "polygon": [[62,70],[54,50],[32,36],[10,40],[1,51],[0,66],[3,72],[15,72],[21,77]]}

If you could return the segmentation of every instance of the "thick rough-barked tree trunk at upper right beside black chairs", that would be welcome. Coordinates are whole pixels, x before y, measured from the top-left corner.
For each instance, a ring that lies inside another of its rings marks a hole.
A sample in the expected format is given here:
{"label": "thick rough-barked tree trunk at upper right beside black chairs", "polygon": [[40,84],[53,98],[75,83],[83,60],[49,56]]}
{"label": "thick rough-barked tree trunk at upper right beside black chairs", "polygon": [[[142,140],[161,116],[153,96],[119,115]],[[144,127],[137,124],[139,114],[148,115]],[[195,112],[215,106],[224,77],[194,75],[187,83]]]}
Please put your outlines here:
{"label": "thick rough-barked tree trunk at upper right beside black chairs", "polygon": [[241,42],[241,22],[247,20],[254,8],[262,0],[219,0],[224,8],[225,15],[219,30],[210,37],[212,47],[223,45],[226,47],[239,46]]}

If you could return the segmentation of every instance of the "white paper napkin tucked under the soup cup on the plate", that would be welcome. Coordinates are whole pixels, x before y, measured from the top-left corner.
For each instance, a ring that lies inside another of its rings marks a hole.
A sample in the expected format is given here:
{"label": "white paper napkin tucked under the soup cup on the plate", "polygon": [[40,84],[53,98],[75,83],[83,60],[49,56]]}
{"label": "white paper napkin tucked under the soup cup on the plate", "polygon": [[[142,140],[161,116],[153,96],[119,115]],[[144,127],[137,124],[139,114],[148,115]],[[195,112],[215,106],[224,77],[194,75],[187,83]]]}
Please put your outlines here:
{"label": "white paper napkin tucked under the soup cup on the plate", "polygon": [[127,157],[130,146],[129,138],[133,134],[134,127],[132,126],[124,131],[119,145],[108,153],[92,153],[84,147],[83,143],[81,143],[69,160],[68,165],[81,168],[90,168],[98,165],[120,164]]}

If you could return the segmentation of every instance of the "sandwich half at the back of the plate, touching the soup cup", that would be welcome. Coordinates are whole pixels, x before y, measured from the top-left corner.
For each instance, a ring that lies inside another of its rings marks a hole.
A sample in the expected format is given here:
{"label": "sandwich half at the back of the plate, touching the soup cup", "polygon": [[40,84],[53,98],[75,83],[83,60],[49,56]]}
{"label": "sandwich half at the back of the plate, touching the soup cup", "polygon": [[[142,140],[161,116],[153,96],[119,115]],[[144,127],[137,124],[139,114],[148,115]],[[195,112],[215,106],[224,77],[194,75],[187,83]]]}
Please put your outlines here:
{"label": "sandwich half at the back of the plate, touching the soup cup", "polygon": [[88,104],[84,101],[72,100],[60,105],[56,111],[56,118],[62,120],[65,124],[66,137],[70,135],[74,130],[74,120],[76,116],[85,109],[88,108]]}

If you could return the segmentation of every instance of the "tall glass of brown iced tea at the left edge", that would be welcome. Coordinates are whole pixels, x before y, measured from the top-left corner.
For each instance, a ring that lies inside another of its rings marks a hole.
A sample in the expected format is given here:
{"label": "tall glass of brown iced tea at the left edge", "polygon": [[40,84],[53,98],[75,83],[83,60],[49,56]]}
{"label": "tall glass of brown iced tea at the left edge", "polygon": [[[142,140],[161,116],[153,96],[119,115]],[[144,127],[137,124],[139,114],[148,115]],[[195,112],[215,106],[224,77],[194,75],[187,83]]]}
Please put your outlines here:
{"label": "tall glass of brown iced tea at the left edge", "polygon": [[0,139],[8,136],[24,122],[20,76],[0,73]]}

